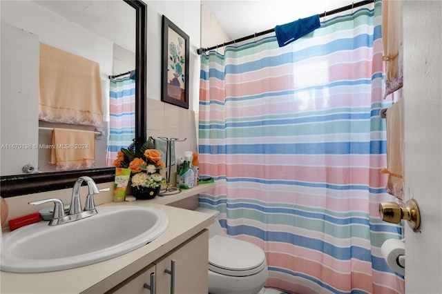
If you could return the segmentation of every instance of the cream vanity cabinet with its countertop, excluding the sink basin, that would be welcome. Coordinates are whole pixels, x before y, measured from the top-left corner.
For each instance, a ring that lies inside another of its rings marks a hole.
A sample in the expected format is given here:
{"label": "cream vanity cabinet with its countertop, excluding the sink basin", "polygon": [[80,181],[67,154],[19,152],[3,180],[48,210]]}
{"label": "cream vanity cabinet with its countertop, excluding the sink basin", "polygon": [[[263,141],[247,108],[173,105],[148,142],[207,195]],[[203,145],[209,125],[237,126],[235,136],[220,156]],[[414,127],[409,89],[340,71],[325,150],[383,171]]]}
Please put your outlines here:
{"label": "cream vanity cabinet with its countertop, excluding the sink basin", "polygon": [[[200,185],[202,186],[202,185]],[[189,189],[191,190],[191,189]],[[0,271],[0,293],[145,293],[155,272],[158,294],[169,294],[175,260],[175,293],[207,294],[209,284],[209,231],[213,215],[151,203],[150,200],[104,204],[157,208],[169,217],[166,231],[141,248],[88,266],[48,273]],[[3,235],[4,236],[4,235]]]}

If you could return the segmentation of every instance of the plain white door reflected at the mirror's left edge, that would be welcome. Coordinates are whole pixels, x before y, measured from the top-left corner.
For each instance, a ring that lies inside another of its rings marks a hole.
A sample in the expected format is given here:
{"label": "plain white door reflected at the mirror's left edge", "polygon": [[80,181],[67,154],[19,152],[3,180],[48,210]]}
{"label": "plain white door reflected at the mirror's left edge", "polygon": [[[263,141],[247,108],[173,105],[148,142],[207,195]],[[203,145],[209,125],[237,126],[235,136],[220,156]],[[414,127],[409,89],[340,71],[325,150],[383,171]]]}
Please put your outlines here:
{"label": "plain white door reflected at the mirror's left edge", "polygon": [[38,164],[39,50],[37,35],[1,23],[0,175]]}

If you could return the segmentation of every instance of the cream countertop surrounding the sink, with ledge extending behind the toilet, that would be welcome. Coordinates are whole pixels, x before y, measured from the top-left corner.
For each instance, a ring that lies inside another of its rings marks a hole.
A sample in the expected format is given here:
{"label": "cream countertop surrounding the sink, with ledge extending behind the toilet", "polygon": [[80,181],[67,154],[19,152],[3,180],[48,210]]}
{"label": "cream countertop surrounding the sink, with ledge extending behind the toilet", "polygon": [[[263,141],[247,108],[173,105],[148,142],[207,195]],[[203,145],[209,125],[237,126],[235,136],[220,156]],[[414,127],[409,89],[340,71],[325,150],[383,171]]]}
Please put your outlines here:
{"label": "cream countertop surrounding the sink, with ledge extending behind the toilet", "polygon": [[212,215],[162,205],[204,192],[204,190],[213,186],[212,184],[204,185],[198,186],[200,188],[183,190],[183,194],[173,195],[173,197],[164,196],[155,197],[151,200],[103,204],[103,206],[135,205],[158,208],[168,215],[169,226],[160,237],[142,248],[90,266],[50,273],[7,273],[0,271],[0,293],[61,294],[84,291],[86,293],[97,293],[98,288],[111,288],[116,280],[125,280],[213,223]]}

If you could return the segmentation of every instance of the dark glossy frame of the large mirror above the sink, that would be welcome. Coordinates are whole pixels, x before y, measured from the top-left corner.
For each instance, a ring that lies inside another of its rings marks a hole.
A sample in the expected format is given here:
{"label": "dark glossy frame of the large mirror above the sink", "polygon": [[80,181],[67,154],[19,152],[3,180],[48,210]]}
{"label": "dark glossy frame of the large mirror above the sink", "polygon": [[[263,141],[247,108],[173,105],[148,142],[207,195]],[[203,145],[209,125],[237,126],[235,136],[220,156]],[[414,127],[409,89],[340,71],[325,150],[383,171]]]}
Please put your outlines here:
{"label": "dark glossy frame of the large mirror above the sink", "polygon": [[[137,148],[140,148],[144,141],[146,141],[147,8],[146,4],[140,0],[123,1],[122,3],[126,3],[135,10],[135,144],[137,145]],[[17,124],[18,123],[20,122],[17,122]],[[0,194],[1,197],[12,197],[62,188],[71,188],[75,180],[82,175],[92,177],[96,183],[113,182],[115,168],[88,168],[49,173],[2,176],[0,177]]]}

